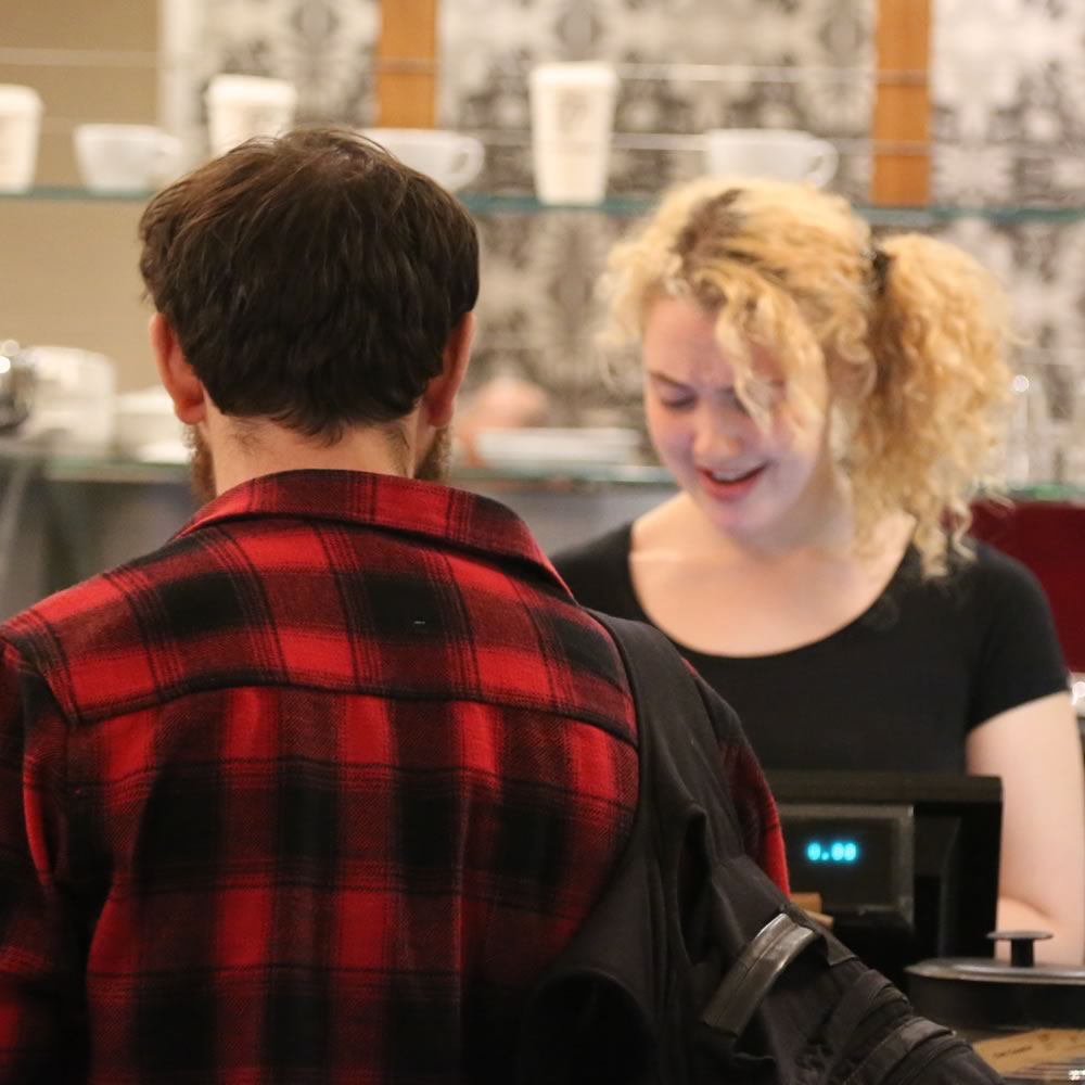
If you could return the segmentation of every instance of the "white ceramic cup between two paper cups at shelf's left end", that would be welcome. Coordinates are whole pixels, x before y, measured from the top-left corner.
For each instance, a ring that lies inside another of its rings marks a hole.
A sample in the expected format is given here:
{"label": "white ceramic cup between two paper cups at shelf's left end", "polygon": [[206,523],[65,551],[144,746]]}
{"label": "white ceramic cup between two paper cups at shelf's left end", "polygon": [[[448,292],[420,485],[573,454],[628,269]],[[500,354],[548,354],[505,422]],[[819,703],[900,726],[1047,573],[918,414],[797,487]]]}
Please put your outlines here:
{"label": "white ceramic cup between two paper cups at shelf's left end", "polygon": [[77,125],[75,157],[95,192],[145,192],[177,169],[181,141],[151,125]]}

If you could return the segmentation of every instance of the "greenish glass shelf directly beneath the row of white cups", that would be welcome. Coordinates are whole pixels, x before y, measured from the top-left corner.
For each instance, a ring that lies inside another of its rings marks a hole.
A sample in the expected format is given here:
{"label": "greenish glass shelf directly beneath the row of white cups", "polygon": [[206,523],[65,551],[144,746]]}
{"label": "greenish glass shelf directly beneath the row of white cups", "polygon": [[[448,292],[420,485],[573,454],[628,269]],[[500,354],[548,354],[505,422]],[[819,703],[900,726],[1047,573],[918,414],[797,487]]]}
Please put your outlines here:
{"label": "greenish glass shelf directly beneath the row of white cups", "polygon": [[[26,192],[0,192],[2,201],[43,201],[52,203],[142,203],[152,192],[93,192],[76,186],[41,186]],[[648,214],[656,197],[647,195],[609,196],[601,204],[544,204],[528,193],[497,194],[463,192],[460,200],[474,215],[549,215],[595,214],[617,218]],[[856,212],[875,226],[922,228],[962,218],[988,222],[1085,222],[1085,204],[1080,206],[968,206],[939,204],[929,207],[890,207],[856,204]]]}

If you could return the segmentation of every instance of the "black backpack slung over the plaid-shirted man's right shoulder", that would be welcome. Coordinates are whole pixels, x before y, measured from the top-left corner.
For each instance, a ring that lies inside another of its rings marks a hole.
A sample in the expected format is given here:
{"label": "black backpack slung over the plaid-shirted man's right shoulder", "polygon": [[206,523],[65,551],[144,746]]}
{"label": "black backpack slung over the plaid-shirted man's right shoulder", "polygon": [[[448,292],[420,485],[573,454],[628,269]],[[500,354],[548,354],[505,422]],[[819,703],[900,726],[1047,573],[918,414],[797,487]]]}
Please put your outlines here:
{"label": "black backpack slung over the plaid-shirted man's right shoulder", "polygon": [[528,1003],[521,1085],[999,1082],[744,853],[685,663],[655,629],[595,616],[636,698],[640,797],[608,890]]}

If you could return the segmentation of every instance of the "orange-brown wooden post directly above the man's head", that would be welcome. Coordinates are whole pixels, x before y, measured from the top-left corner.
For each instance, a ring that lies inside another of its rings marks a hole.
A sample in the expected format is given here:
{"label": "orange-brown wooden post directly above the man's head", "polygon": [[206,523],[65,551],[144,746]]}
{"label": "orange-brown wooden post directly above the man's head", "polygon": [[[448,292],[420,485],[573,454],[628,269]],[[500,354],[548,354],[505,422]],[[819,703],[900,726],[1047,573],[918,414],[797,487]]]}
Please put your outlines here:
{"label": "orange-brown wooden post directly above the man's head", "polygon": [[433,128],[437,113],[438,0],[382,0],[376,124]]}

